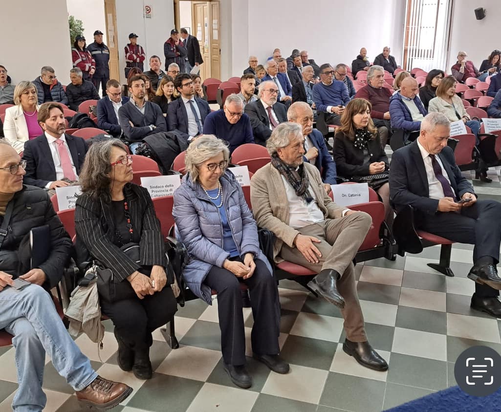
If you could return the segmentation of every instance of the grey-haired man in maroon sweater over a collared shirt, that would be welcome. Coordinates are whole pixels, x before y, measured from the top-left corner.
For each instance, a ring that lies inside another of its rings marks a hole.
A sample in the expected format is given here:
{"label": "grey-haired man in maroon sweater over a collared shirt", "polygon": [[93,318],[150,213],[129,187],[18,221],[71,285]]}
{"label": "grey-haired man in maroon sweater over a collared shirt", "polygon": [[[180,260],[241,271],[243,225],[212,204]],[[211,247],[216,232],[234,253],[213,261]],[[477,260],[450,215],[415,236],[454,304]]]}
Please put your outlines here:
{"label": "grey-haired man in maroon sweater over a collared shirt", "polygon": [[355,94],[355,98],[365,99],[372,105],[371,118],[378,128],[381,145],[386,146],[390,132],[390,98],[392,92],[384,84],[384,69],[381,66],[371,66],[367,72],[367,86]]}

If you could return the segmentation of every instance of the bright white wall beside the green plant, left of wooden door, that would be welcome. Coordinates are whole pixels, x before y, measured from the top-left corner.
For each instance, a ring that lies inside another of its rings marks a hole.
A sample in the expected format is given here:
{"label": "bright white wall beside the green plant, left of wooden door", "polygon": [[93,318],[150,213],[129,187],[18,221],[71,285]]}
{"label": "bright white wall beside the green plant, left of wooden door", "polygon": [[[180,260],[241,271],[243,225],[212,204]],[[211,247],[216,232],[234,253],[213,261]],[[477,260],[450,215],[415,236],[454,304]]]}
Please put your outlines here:
{"label": "bright white wall beside the green plant, left of wooden door", "polygon": [[76,20],[81,20],[84,27],[84,37],[87,44],[94,42],[94,32],[103,32],[103,42],[106,44],[106,23],[104,19],[103,0],[67,0],[68,14],[75,16]]}

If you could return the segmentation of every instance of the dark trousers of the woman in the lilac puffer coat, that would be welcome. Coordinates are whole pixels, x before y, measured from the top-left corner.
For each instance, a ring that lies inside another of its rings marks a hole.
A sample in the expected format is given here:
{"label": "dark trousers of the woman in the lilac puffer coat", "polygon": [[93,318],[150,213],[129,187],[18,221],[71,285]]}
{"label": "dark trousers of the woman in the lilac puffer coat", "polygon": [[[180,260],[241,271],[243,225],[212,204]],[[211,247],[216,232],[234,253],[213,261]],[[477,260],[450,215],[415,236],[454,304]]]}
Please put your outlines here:
{"label": "dark trousers of the woman in the lilac puffer coat", "polygon": [[[242,262],[241,259],[232,259]],[[256,259],[256,270],[248,279],[237,278],[226,269],[213,266],[204,283],[217,291],[217,310],[221,329],[224,362],[245,364],[245,332],[243,326],[240,282],[250,289],[250,305],[254,317],[251,342],[253,352],[275,355],[280,352],[280,303],[277,281],[266,265]]]}

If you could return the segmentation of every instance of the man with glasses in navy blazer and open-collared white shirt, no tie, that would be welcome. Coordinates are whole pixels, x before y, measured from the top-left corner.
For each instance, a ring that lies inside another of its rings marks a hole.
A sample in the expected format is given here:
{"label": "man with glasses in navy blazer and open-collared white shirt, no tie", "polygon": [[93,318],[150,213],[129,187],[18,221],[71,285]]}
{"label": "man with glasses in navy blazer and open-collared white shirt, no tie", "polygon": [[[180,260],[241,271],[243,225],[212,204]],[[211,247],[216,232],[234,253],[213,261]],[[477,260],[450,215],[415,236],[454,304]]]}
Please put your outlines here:
{"label": "man with glasses in navy blazer and open-collared white shirt, no tie", "polygon": [[115,79],[110,79],[106,83],[106,94],[106,97],[97,102],[97,125],[114,137],[120,137],[122,128],[118,122],[118,109],[127,103],[129,98],[122,96],[120,83]]}

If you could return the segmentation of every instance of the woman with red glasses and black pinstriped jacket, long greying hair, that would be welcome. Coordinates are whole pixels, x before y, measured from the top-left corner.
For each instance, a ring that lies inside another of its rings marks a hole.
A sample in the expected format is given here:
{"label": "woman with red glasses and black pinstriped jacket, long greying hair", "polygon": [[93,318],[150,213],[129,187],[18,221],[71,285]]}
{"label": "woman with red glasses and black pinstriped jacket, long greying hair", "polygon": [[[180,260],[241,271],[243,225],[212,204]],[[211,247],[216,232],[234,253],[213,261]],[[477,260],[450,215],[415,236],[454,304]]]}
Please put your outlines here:
{"label": "woman with red glasses and black pinstriped jacket, long greying hair", "polygon": [[[153,202],[148,190],[131,180],[132,156],[124,143],[111,139],[91,145],[80,173],[76,247],[81,262],[94,261],[112,272],[112,290],[98,283],[98,292],[102,312],[115,325],[118,365],[149,379],[151,332],[169,322],[177,304],[167,285],[173,279],[168,282],[165,273]],[[136,257],[130,253],[134,249]]]}

